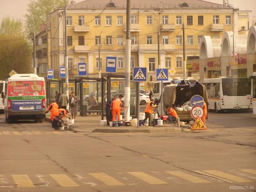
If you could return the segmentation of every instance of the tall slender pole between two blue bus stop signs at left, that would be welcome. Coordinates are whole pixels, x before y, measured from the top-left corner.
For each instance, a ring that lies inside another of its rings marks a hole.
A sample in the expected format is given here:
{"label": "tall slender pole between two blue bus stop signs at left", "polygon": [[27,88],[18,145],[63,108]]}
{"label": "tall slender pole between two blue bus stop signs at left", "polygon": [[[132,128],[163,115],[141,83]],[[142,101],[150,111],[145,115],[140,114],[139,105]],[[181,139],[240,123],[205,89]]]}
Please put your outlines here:
{"label": "tall slender pole between two blue bus stop signs at left", "polygon": [[[64,64],[65,64],[65,69],[66,69],[66,77],[65,77],[65,84],[66,84],[66,96],[69,96],[69,65],[68,65],[68,39],[67,39],[67,2],[65,2],[65,7],[64,7],[64,25],[65,25],[65,57],[64,57]],[[69,106],[67,106],[67,109],[69,109]]]}

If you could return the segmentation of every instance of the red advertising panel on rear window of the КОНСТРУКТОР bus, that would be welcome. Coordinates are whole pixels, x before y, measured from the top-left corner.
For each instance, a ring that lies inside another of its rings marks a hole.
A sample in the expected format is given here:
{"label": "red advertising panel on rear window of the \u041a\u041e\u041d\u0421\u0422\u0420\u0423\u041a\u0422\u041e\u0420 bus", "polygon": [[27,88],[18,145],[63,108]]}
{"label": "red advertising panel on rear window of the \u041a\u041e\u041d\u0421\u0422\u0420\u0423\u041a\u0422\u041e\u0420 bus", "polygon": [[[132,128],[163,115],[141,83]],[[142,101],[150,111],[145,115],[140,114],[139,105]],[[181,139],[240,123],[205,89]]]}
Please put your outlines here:
{"label": "red advertising panel on rear window of the \u041a\u041e\u041d\u0421\u0422\u0420\u0423\u041a\u0422\u041e\u0420 bus", "polygon": [[44,83],[40,80],[11,81],[8,83],[8,96],[43,96]]}

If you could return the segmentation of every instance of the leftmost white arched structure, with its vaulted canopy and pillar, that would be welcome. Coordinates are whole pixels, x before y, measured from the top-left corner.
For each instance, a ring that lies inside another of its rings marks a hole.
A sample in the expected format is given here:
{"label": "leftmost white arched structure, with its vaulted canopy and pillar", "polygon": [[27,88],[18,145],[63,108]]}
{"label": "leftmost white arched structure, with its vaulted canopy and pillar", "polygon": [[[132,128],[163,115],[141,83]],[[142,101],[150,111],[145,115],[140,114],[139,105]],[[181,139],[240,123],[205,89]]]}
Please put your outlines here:
{"label": "leftmost white arched structure, with its vaulted canopy and pillar", "polygon": [[206,74],[208,74],[207,59],[220,56],[221,39],[211,38],[210,36],[203,36],[200,43],[199,53],[199,79],[200,82],[203,82],[205,69]]}

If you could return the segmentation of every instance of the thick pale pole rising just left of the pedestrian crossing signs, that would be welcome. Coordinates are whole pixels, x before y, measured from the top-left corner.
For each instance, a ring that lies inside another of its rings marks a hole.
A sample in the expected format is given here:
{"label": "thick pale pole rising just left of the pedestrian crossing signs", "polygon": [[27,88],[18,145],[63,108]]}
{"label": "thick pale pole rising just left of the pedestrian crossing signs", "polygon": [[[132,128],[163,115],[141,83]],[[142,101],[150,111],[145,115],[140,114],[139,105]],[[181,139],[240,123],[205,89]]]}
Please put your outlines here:
{"label": "thick pale pole rising just left of the pedestrian crossing signs", "polygon": [[[125,42],[125,87],[124,87],[124,105],[127,106],[124,110],[124,120],[126,122],[130,121],[130,74],[131,74],[131,37],[130,37],[130,27],[131,27],[131,4],[130,0],[126,0],[126,42]],[[138,119],[139,122],[139,119]]]}

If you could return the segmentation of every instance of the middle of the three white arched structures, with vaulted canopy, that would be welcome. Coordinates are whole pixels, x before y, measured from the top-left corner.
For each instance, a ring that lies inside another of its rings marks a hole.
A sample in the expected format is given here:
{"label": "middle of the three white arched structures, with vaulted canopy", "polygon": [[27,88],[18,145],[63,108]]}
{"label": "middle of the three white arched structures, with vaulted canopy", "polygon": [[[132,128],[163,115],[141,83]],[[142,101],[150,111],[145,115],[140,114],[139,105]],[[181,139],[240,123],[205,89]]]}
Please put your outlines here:
{"label": "middle of the three white arched structures, with vaulted canopy", "polygon": [[230,73],[230,57],[233,56],[233,52],[235,55],[246,54],[247,35],[234,36],[233,32],[224,32],[221,44],[221,76],[234,75]]}

